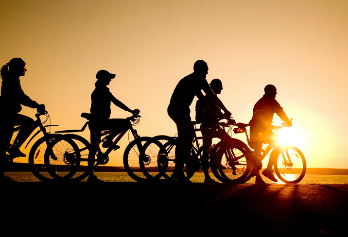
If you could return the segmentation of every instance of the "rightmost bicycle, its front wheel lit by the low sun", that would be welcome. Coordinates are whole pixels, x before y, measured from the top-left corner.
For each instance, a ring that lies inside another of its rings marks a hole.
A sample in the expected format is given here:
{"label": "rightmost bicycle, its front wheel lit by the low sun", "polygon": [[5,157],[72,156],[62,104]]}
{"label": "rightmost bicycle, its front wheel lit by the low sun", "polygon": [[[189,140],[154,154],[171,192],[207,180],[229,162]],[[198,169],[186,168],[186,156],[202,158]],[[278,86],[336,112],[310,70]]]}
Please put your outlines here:
{"label": "rightmost bicycle, its front wheel lit by the low sun", "polygon": [[[292,121],[292,119],[290,121]],[[275,131],[276,135],[278,130],[284,127],[284,124],[285,123],[282,123],[282,126],[272,126],[272,130]],[[248,145],[252,146],[252,142],[250,141],[246,131],[246,127],[248,127],[249,124],[237,123],[236,125],[237,127],[233,129],[233,132],[235,134],[245,133]],[[266,155],[271,152],[272,149],[272,152],[279,153],[277,162],[275,162],[274,164],[274,170],[278,178],[285,184],[299,183],[305,176],[307,169],[306,159],[303,153],[294,146],[279,145],[277,149],[275,149],[271,144],[264,144],[259,160],[262,161],[266,157]],[[253,160],[254,162],[256,162],[255,155],[253,155]],[[253,166],[253,169],[245,179],[245,182],[247,182],[252,176],[254,176],[255,171],[259,172],[259,170],[254,169],[256,169],[255,166]]]}

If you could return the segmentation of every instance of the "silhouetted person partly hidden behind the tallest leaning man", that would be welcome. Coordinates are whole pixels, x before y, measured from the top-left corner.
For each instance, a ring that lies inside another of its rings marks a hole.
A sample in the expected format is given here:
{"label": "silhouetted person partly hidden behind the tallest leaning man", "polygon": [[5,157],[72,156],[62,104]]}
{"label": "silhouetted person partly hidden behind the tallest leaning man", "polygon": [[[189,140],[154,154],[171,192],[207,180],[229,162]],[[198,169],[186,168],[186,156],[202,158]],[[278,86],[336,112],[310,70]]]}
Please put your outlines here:
{"label": "silhouetted person partly hidden behind the tallest leaning man", "polygon": [[[210,88],[211,90],[217,95],[220,94],[223,87],[222,87],[222,82],[219,79],[213,79],[210,82]],[[212,111],[214,112],[220,112],[221,109],[214,104],[209,98],[207,98],[207,101],[209,103],[209,106],[211,108]],[[208,110],[204,109],[202,103],[200,100],[198,100],[196,102],[196,122],[201,123],[200,128],[201,133],[203,135],[203,144],[207,144],[209,145],[209,147],[211,146],[211,140],[207,139],[209,138],[209,136],[214,132],[215,128],[216,128],[216,122],[215,122],[215,117],[214,115],[211,115]],[[205,149],[203,151],[203,155],[202,155],[202,169],[204,171],[204,183],[216,183],[216,181],[214,181],[210,175],[209,175],[209,160],[208,160],[208,156],[209,154],[208,149]]]}

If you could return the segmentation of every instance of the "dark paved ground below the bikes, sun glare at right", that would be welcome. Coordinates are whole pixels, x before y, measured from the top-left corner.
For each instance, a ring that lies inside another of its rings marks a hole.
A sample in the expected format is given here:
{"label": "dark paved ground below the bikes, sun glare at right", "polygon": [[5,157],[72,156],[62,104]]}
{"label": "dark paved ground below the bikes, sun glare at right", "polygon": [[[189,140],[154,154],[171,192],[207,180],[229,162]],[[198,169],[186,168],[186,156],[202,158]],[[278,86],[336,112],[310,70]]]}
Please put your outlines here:
{"label": "dark paved ground below the bikes, sun glare at right", "polygon": [[14,236],[347,236],[347,185],[84,182],[1,189],[1,232]]}

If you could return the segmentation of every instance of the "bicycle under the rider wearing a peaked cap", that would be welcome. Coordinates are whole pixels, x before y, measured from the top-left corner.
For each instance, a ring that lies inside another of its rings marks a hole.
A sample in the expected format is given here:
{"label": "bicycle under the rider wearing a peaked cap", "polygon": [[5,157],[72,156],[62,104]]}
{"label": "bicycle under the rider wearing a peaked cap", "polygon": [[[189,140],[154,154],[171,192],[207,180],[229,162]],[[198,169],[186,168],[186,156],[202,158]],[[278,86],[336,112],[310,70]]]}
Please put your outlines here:
{"label": "bicycle under the rider wearing a peaked cap", "polygon": [[[56,132],[68,133],[64,136],[72,139],[77,144],[78,148],[67,150],[64,156],[58,160],[53,160],[49,157],[46,158],[45,165],[46,167],[49,167],[48,170],[52,177],[57,180],[64,180],[68,178],[70,180],[81,181],[85,179],[89,174],[88,159],[94,160],[95,169],[98,165],[106,165],[109,161],[110,152],[114,150],[112,147],[109,147],[106,149],[106,151],[102,152],[99,143],[90,144],[82,136],[69,134],[83,132],[86,129],[89,123],[90,114],[82,113],[81,117],[87,119],[87,122],[82,129]],[[127,133],[127,131],[132,133],[134,140],[132,140],[124,150],[123,165],[125,171],[130,177],[138,182],[141,182],[147,181],[147,177],[142,173],[142,169],[139,166],[139,157],[141,157],[142,160],[146,160],[149,159],[150,156],[157,155],[156,152],[154,153],[153,147],[158,147],[159,144],[151,137],[140,137],[138,135],[137,130],[135,130],[133,126],[139,124],[139,119],[140,116],[138,114],[133,114],[131,117],[126,118],[126,120],[128,120],[127,126],[122,130],[121,133],[118,132],[118,136],[116,136],[113,143],[116,145],[121,140],[123,135]],[[100,142],[104,142],[107,139],[107,135],[111,135],[114,132],[116,131],[112,129],[102,131]],[[60,166],[65,167],[64,172],[56,171],[56,167]]]}

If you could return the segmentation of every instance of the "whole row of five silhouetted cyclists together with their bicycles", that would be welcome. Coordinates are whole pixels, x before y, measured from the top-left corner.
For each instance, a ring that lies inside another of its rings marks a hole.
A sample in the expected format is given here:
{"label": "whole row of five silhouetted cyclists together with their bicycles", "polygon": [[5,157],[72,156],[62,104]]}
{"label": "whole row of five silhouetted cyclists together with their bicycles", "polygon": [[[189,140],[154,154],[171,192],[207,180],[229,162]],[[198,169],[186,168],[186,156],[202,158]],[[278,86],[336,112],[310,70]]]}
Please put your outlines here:
{"label": "whole row of five silhouetted cyclists together with their bicycles", "polygon": [[[51,127],[57,125],[44,125],[50,121],[45,105],[30,99],[21,88],[19,78],[26,71],[26,63],[21,58],[13,58],[1,68],[0,109],[4,116],[1,122],[0,169],[3,183],[17,182],[4,175],[5,166],[16,157],[26,156],[19,149],[37,127],[39,131],[32,135],[26,147],[42,133],[28,157],[32,172],[41,181],[72,182],[87,178],[87,182],[103,182],[96,177],[94,170],[108,163],[109,153],[120,149],[117,144],[127,132],[128,136],[132,134],[132,138],[125,148],[123,165],[129,176],[139,182],[191,183],[192,175],[203,170],[205,183],[217,183],[210,177],[211,169],[221,182],[245,183],[256,176],[255,183],[264,184],[262,174],[273,182],[279,179],[284,183],[298,183],[306,173],[302,152],[294,146],[281,146],[277,142],[277,131],[292,126],[292,120],[276,101],[277,89],[274,85],[264,87],[264,95],[256,102],[249,123],[236,123],[217,97],[223,89],[221,80],[213,79],[209,84],[206,79],[208,65],[198,60],[193,65],[193,72],[176,85],[167,108],[169,117],[176,124],[177,136],[147,137],[139,136],[134,129],[139,124],[139,109],[128,108],[107,87],[116,75],[100,70],[91,94],[90,113],[81,114],[87,119],[82,129],[51,133]],[[194,97],[198,100],[196,118],[192,121],[190,106]],[[126,119],[110,119],[111,102],[132,115]],[[37,109],[36,120],[19,114],[21,105]],[[272,125],[274,114],[284,121],[282,126]],[[41,120],[40,116],[46,119]],[[76,134],[87,126],[90,142]],[[250,138],[246,129],[248,126]],[[247,144],[233,138],[233,133],[245,133]],[[213,138],[220,141],[212,144]],[[260,174],[262,160],[268,153],[268,165]],[[278,179],[273,174],[273,168]]]}

